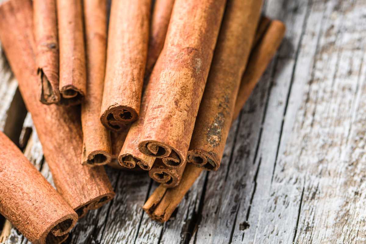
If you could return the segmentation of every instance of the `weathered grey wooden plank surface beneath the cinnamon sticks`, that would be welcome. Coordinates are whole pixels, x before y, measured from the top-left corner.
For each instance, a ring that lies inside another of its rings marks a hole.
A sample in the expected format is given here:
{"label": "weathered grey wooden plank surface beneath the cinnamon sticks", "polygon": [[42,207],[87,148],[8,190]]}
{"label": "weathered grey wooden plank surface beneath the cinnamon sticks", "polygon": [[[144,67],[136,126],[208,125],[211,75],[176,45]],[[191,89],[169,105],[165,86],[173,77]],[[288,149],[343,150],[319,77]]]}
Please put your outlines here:
{"label": "weathered grey wooden plank surface beneath the cinnamon sticks", "polygon": [[[204,172],[160,224],[141,209],[156,184],[108,168],[116,198],[81,219],[67,243],[365,243],[365,8],[266,0],[286,38],[231,129],[221,169]],[[21,135],[52,180],[31,120],[19,126],[16,86],[2,55],[0,129]],[[12,229],[6,243],[27,240]]]}

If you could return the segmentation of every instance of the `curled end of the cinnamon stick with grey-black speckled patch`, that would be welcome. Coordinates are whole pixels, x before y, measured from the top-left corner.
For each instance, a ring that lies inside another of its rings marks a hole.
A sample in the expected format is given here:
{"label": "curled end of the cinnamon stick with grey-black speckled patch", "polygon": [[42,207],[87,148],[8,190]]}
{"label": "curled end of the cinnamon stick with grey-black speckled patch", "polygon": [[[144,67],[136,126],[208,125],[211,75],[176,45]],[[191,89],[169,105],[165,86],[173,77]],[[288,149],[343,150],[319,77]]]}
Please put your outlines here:
{"label": "curled end of the cinnamon stick with grey-black speckled patch", "polygon": [[187,154],[187,162],[205,170],[218,170],[220,162],[204,150],[190,150]]}

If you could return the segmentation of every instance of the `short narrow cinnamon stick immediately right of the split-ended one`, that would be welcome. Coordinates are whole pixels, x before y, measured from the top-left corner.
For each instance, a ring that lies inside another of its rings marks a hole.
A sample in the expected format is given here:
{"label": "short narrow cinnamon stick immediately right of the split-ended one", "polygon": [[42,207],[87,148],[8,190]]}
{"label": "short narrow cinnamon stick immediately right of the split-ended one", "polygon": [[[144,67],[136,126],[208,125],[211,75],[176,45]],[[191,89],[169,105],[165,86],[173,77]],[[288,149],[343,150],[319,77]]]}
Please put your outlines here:
{"label": "short narrow cinnamon stick immediately right of the split-ended one", "polygon": [[86,95],[82,0],[57,0],[61,105],[80,104]]}

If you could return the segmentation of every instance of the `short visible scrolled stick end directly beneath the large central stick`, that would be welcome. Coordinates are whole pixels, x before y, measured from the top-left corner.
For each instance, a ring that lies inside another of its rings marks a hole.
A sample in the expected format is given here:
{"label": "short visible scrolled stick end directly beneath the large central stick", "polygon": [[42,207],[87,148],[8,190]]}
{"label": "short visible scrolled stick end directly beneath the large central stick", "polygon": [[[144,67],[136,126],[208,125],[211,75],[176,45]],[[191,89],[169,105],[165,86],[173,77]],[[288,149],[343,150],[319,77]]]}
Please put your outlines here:
{"label": "short visible scrolled stick end directly beneath the large central stick", "polygon": [[164,187],[173,188],[179,184],[184,168],[186,168],[186,164],[178,168],[167,167],[161,158],[157,158],[149,170],[149,176]]}

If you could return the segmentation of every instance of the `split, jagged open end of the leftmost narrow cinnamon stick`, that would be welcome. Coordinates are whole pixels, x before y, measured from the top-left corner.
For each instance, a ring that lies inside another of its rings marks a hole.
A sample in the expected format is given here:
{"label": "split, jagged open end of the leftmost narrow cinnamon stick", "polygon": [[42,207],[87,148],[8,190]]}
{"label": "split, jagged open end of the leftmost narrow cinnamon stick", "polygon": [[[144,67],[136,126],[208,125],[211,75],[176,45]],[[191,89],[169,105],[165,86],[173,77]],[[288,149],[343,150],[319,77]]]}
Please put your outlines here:
{"label": "split, jagged open end of the leftmost narrow cinnamon stick", "polygon": [[[44,72],[42,68],[38,68],[37,74],[40,78],[41,83],[41,97],[40,101],[43,104],[57,104],[60,102],[61,95],[59,92],[59,88],[53,86],[52,84],[55,84],[55,82],[50,82],[48,75]],[[58,83],[58,81],[56,82]]]}

